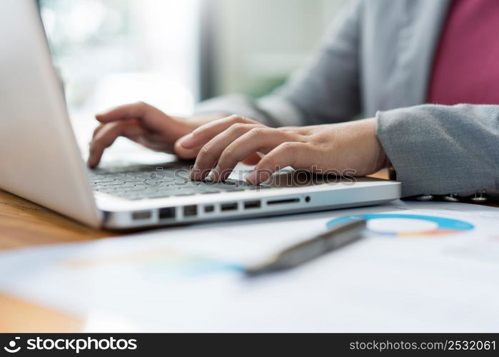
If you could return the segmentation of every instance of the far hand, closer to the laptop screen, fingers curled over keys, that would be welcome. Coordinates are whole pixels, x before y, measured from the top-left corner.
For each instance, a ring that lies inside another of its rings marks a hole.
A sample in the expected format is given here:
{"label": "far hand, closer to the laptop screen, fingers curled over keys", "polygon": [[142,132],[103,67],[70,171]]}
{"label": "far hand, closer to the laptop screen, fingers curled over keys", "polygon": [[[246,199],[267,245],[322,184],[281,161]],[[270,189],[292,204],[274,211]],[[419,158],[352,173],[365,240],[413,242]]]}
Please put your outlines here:
{"label": "far hand, closer to the laptop screen, fingers curled over keys", "polygon": [[[220,117],[186,119],[168,116],[159,109],[141,102],[119,106],[96,115],[101,124],[95,129],[90,143],[88,164],[90,167],[96,167],[101,161],[104,149],[111,146],[119,136],[125,136],[154,151],[171,153],[179,138],[201,124]],[[183,159],[193,159],[198,151],[180,147],[176,154]]]}

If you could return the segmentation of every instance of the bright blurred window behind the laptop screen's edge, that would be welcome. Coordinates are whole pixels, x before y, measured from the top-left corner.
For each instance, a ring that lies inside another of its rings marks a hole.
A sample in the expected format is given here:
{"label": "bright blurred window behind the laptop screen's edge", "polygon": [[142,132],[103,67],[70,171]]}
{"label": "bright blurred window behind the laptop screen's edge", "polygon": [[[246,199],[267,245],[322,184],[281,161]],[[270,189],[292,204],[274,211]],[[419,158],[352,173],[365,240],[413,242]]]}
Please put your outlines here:
{"label": "bright blurred window behind the laptop screen's edge", "polygon": [[198,96],[198,0],[40,0],[72,109],[148,101],[191,111]]}

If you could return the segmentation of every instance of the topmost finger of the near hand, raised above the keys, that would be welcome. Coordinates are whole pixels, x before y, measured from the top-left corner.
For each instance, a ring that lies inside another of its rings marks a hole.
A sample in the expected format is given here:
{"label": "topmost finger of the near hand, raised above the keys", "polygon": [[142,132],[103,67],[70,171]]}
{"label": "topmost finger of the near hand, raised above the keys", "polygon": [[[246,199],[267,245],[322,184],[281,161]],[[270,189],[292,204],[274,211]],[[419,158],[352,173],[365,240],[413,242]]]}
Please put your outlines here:
{"label": "topmost finger of the near hand, raised above the keys", "polygon": [[248,119],[240,115],[231,115],[226,118],[211,121],[208,124],[199,126],[191,134],[186,135],[180,145],[186,149],[193,149],[196,147],[201,147],[208,141],[213,139],[216,135],[220,134],[222,131],[228,129],[234,124],[259,124],[258,121]]}

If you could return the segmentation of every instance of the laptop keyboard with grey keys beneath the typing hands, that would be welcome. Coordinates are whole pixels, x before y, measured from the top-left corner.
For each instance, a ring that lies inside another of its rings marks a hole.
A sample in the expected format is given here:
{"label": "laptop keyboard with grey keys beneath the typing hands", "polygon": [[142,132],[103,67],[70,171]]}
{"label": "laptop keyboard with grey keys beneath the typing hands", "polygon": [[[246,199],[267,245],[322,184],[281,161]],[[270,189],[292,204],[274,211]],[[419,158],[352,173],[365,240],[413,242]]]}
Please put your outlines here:
{"label": "laptop keyboard with grey keys beneath the typing hands", "polygon": [[271,188],[264,185],[253,186],[231,178],[225,182],[191,181],[187,169],[161,166],[89,170],[89,181],[93,191],[128,200]]}

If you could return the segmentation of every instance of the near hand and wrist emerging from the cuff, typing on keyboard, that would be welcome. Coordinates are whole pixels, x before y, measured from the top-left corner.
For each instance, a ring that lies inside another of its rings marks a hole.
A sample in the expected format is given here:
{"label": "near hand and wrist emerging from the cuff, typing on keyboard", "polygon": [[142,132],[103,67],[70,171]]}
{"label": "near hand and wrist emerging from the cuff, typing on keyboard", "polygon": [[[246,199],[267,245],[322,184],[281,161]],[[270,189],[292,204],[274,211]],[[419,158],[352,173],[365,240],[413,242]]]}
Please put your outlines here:
{"label": "near hand and wrist emerging from the cuff, typing on keyboard", "polygon": [[243,116],[228,116],[195,129],[177,141],[186,150],[198,149],[191,178],[208,176],[223,181],[234,166],[254,153],[262,159],[246,177],[251,184],[266,181],[286,166],[316,173],[354,170],[355,176],[373,174],[388,166],[375,136],[376,119],[341,124],[269,128]]}

